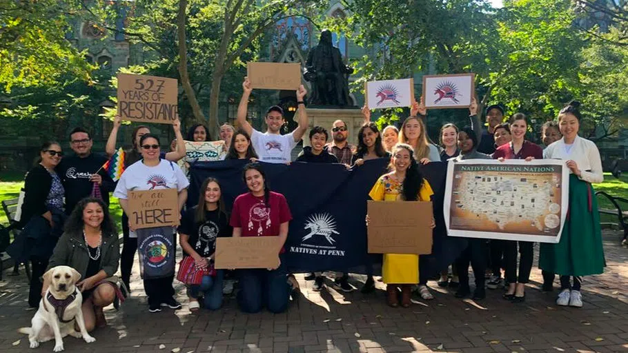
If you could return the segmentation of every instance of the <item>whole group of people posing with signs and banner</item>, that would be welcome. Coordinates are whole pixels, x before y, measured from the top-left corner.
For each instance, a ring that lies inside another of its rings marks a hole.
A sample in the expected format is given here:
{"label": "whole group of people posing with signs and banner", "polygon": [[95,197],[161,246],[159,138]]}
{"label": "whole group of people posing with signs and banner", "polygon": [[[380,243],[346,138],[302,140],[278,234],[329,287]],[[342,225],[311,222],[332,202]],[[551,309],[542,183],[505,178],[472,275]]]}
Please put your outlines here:
{"label": "whole group of people posing with signs and banner", "polygon": [[[137,234],[129,228],[128,192],[172,188],[177,190],[182,210],[178,228],[179,244],[184,256],[190,257],[195,268],[203,269],[202,280],[188,285],[190,310],[205,307],[217,310],[222,306],[224,283],[227,277],[237,278],[237,302],[244,312],[259,312],[266,307],[271,312],[283,312],[288,307],[291,292],[298,289],[293,274],[286,270],[284,243],[288,224],[292,219],[286,198],[269,190],[263,163],[291,163],[291,152],[308,128],[304,109],[306,90],[297,92],[298,126],[293,132],[280,134],[284,125],[282,108],[273,106],[266,112],[266,132],[255,130],[246,120],[251,83],[245,79],[244,93],[237,110],[236,130],[231,125],[220,128],[220,138],[226,146],[226,159],[251,161],[244,168],[242,178],[248,192],[238,196],[231,210],[226,210],[221,183],[208,178],[202,183],[197,205],[184,210],[188,179],[175,163],[185,156],[185,140],[210,141],[204,125],[193,125],[184,139],[179,121],[173,128],[176,140],[169,152],[161,151],[159,137],[150,128],[137,126],[132,133],[133,148],[126,151],[126,170],[117,183],[104,172],[97,172],[107,157],[91,152],[90,134],[81,128],[70,133],[70,146],[75,152],[63,157],[61,145],[48,142],[42,145],[39,163],[26,176],[26,197],[22,206],[21,222],[28,241],[22,248],[22,259],[32,263],[32,283],[29,305],[39,303],[48,283],[39,277],[55,265],[70,265],[81,273],[80,290],[84,293],[84,316],[88,330],[105,325],[102,308],[121,299],[121,292],[129,287],[133,259],[137,252]],[[542,141],[545,148],[528,141],[530,131],[527,117],[514,114],[504,122],[504,110],[491,105],[486,110],[488,127],[480,127],[478,105],[469,107],[470,126],[458,128],[446,123],[440,129],[440,143],[428,139],[424,119],[426,108],[415,102],[411,115],[400,128],[394,125],[379,130],[372,123],[366,108],[365,123],[357,136],[357,146],[348,143],[349,129],[342,120],[328,130],[322,126],[311,128],[309,146],[295,161],[306,163],[342,163],[348,168],[360,168],[369,159],[389,158],[389,172],[383,174],[369,196],[374,201],[430,201],[433,190],[420,172],[420,164],[435,161],[455,163],[465,159],[562,159],[571,173],[569,183],[569,214],[558,244],[542,244],[540,268],[543,270],[543,290],[551,290],[555,274],[560,275],[558,305],[582,306],[580,285],[582,276],[601,273],[604,266],[600,224],[591,183],[602,181],[600,154],[596,145],[578,136],[582,119],[578,103],[572,102],[558,114],[558,121],[545,123]],[[116,151],[117,132],[121,121],[115,119],[106,145],[111,156]],[[119,199],[122,216],[123,249],[115,223],[108,210],[108,193]],[[64,202],[65,199],[65,202]],[[369,216],[366,215],[366,223]],[[432,219],[431,227],[435,226]],[[213,267],[216,238],[220,236],[277,236],[277,267],[248,270],[217,270]],[[518,252],[520,259],[518,261]],[[384,254],[382,281],[386,283],[386,301],[391,307],[411,305],[413,288],[422,299],[433,299],[427,287],[431,274],[421,271],[421,257],[413,254]],[[458,259],[451,264],[451,279],[447,268],[438,279],[440,287],[456,288],[455,296],[471,295],[469,264],[475,276],[473,299],[484,299],[484,288],[505,286],[504,299],[519,303],[525,299],[525,284],[533,260],[533,243],[491,239],[469,239]],[[518,263],[519,262],[519,263]],[[115,273],[121,266],[121,279]],[[518,263],[518,264],[517,264]],[[487,278],[489,268],[489,281]],[[502,280],[505,270],[505,282]],[[573,281],[571,281],[573,277]],[[313,281],[312,289],[322,290],[321,272],[306,274]],[[349,274],[335,275],[333,285],[338,290],[351,292]],[[161,307],[178,309],[175,299],[174,275],[144,279],[150,312]],[[123,289],[121,291],[121,289]],[[362,292],[375,290],[373,273],[368,273]]]}

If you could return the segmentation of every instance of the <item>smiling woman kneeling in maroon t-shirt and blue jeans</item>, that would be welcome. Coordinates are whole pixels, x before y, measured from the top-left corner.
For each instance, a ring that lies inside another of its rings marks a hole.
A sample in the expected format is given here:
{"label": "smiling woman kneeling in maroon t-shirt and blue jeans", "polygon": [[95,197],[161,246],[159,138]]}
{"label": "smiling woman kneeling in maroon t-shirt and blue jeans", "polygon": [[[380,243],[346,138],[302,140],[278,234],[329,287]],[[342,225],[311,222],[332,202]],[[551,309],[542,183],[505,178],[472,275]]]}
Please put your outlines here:
{"label": "smiling woman kneeling in maroon t-shirt and blue jeans", "polygon": [[288,222],[292,219],[290,208],[284,195],[268,189],[266,174],[259,164],[244,167],[244,183],[248,192],[237,196],[231,211],[233,236],[277,236],[279,265],[274,269],[238,270],[241,290],[237,301],[243,312],[259,312],[264,306],[270,312],[284,312],[288,308],[290,287],[282,254],[288,238]]}

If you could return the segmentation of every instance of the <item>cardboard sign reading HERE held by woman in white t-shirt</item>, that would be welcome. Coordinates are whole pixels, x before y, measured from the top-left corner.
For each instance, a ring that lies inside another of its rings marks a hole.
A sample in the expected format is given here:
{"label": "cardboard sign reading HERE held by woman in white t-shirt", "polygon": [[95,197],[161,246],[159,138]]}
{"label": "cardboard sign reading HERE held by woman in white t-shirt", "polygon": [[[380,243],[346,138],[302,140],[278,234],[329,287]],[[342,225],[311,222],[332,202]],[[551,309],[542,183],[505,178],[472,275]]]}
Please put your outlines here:
{"label": "cardboard sign reading HERE held by woman in white t-shirt", "polygon": [[128,221],[131,228],[179,225],[177,189],[128,192]]}

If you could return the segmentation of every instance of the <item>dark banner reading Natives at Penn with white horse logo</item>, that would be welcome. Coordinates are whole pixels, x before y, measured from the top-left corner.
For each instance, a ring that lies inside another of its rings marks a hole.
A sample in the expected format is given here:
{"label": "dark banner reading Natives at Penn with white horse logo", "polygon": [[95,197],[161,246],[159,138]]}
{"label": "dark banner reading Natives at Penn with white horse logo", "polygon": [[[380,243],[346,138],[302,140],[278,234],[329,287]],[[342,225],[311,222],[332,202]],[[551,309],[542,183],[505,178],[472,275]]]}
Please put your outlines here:
{"label": "dark banner reading Natives at Penn with white horse logo", "polygon": [[[190,166],[188,206],[199,200],[199,187],[207,177],[218,179],[226,210],[246,192],[242,168],[247,161],[199,162]],[[366,253],[366,201],[375,181],[384,173],[389,159],[366,161],[346,170],[341,164],[262,163],[268,187],[286,196],[293,216],[286,241],[286,262],[293,273],[350,271],[378,274],[381,256]],[[422,275],[435,274],[452,263],[466,241],[445,236],[442,217],[446,163],[421,166],[432,186],[437,227],[433,253],[421,256]]]}

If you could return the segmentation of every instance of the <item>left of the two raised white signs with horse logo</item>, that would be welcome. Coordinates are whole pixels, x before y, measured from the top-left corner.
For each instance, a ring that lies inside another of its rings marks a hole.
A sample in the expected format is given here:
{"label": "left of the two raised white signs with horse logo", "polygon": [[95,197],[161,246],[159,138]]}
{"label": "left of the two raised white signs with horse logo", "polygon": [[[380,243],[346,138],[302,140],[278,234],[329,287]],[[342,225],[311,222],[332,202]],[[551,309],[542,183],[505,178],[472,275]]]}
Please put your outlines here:
{"label": "left of the two raised white signs with horse logo", "polygon": [[369,109],[409,107],[414,101],[414,80],[370,81],[364,84]]}

